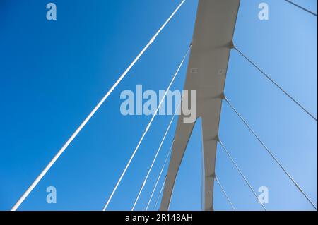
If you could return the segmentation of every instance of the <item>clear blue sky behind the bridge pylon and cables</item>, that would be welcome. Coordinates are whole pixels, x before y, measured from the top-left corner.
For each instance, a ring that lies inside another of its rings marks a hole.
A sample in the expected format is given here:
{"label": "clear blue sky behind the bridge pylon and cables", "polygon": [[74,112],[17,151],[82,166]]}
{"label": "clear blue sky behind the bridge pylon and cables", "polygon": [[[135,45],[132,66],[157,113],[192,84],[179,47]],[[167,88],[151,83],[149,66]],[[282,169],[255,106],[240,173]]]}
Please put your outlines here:
{"label": "clear blue sky behind the bridge pylon and cables", "polygon": [[[315,0],[294,1],[317,11]],[[1,210],[13,206],[179,4],[56,0],[57,20],[47,21],[48,2],[0,3]],[[317,18],[283,0],[266,0],[269,20],[260,21],[260,2],[241,1],[235,43],[317,117]],[[186,1],[21,210],[102,209],[151,118],[122,116],[120,92],[135,90],[136,84],[165,90],[191,42],[196,6],[196,0]],[[182,90],[186,68],[172,90]],[[317,123],[235,51],[225,92],[317,205]],[[170,118],[155,118],[109,209],[131,209]],[[175,123],[136,209],[146,207],[174,132]],[[227,104],[220,138],[254,190],[269,187],[267,209],[312,209]],[[201,209],[201,166],[197,123],[170,209]],[[237,209],[261,209],[220,147],[216,172]],[[57,188],[57,204],[47,204],[47,186]],[[214,205],[230,210],[217,184]]]}

